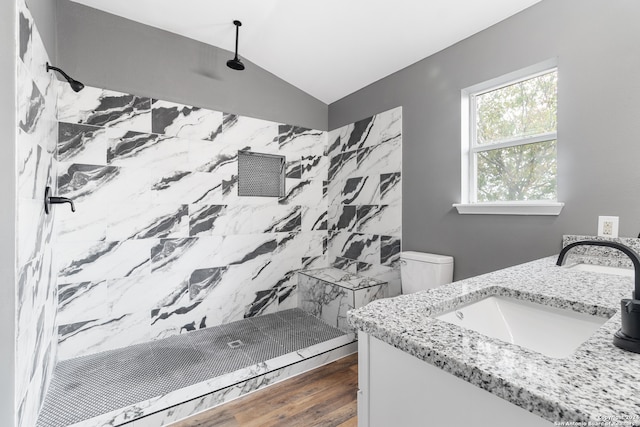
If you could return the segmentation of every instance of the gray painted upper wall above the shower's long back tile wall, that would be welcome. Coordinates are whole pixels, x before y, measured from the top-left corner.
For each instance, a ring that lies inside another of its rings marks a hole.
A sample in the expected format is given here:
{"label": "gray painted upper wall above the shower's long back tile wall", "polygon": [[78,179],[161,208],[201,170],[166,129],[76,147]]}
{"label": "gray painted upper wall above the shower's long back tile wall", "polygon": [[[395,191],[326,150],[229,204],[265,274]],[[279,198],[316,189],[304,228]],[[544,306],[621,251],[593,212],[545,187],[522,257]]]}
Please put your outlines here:
{"label": "gray painted upper wall above the shower's long back tile wall", "polygon": [[69,0],[57,15],[58,63],[89,86],[327,129],[325,103],[248,60],[230,70],[231,52]]}

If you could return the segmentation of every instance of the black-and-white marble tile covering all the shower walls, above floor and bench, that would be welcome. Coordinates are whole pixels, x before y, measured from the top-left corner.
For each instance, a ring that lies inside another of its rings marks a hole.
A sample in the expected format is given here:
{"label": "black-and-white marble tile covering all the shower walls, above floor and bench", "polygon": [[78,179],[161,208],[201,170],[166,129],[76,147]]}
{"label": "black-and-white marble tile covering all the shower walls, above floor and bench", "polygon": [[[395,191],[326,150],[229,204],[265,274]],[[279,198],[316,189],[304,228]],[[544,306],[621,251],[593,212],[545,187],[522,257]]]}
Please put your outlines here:
{"label": "black-and-white marble tile covering all the shower walls, above floor and bench", "polygon": [[[300,270],[399,293],[400,108],[325,132],[75,93],[18,3],[18,425],[36,424],[56,363],[292,313]],[[239,150],[286,157],[284,197],[238,196]],[[45,215],[47,185],[76,212]]]}

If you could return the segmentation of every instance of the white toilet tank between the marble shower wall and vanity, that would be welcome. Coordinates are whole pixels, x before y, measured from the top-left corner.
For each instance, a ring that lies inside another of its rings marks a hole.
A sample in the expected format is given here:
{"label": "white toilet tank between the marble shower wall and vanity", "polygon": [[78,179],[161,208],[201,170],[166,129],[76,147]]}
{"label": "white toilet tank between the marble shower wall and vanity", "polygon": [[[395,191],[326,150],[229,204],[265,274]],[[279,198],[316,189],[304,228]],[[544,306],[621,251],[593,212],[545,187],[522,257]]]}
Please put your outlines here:
{"label": "white toilet tank between the marble shower wall and vanity", "polygon": [[453,281],[453,257],[424,252],[400,253],[402,293],[424,291]]}

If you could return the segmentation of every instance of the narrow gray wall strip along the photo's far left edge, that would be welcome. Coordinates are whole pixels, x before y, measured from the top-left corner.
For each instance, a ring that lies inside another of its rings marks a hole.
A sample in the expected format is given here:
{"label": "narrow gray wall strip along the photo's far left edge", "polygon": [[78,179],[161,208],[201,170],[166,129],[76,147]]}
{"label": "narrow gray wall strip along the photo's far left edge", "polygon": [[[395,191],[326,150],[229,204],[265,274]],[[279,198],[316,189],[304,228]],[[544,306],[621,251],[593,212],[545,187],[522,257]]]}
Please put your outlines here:
{"label": "narrow gray wall strip along the photo's far left edge", "polygon": [[0,13],[0,425],[14,425],[16,43],[15,2]]}

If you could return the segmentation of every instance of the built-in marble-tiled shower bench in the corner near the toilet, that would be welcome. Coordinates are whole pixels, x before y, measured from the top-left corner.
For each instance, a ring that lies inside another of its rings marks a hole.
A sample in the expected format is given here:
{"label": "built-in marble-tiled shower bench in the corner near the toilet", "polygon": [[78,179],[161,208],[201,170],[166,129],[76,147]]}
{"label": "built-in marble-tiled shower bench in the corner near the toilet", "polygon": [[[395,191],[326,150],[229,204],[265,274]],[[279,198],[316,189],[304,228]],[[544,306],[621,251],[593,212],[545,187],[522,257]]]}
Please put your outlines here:
{"label": "built-in marble-tiled shower bench in the corner near the toilet", "polygon": [[387,282],[335,267],[298,274],[298,308],[345,332],[353,332],[347,311],[388,295]]}

